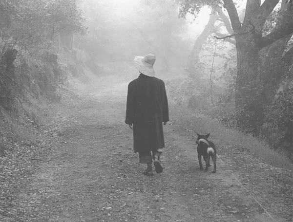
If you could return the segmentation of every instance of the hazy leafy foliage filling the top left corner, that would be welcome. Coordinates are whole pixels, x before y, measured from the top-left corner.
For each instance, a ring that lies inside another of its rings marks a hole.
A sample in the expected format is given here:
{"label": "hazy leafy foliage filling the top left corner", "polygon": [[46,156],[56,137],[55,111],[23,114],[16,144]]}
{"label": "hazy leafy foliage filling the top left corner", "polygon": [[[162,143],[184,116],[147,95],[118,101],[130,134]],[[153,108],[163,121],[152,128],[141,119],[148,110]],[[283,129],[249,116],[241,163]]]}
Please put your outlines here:
{"label": "hazy leafy foliage filling the top left corner", "polygon": [[0,25],[1,47],[11,44],[24,51],[47,50],[62,31],[81,34],[86,31],[76,0],[5,1],[6,4],[0,5],[6,15]]}

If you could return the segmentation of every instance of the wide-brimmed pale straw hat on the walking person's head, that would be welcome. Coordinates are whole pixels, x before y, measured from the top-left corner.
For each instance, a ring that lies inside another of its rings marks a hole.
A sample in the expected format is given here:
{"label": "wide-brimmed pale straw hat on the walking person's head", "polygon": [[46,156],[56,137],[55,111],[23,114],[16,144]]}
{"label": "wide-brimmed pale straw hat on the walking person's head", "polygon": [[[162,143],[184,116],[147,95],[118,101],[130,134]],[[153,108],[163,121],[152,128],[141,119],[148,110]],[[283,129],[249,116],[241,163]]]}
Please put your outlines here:
{"label": "wide-brimmed pale straw hat on the walking person's head", "polygon": [[155,71],[153,65],[156,61],[156,56],[153,54],[148,54],[146,56],[135,56],[134,66],[142,74],[153,77],[155,76]]}

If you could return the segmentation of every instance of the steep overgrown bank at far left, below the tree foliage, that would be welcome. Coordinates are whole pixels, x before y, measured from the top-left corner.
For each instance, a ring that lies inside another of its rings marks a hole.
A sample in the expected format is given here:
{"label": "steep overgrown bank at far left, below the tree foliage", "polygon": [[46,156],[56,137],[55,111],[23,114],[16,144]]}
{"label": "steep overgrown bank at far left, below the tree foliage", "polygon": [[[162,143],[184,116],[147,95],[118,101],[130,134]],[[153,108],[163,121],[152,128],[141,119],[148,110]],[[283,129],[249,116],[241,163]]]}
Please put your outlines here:
{"label": "steep overgrown bank at far left, below the tree foliage", "polygon": [[[14,68],[11,85],[1,82],[3,96],[0,101],[0,153],[7,149],[11,141],[34,143],[34,133],[39,130],[44,116],[49,116],[48,104],[61,102],[63,78],[65,74],[57,63],[57,59],[44,59],[42,63],[19,61]],[[3,76],[2,76],[3,77]],[[37,133],[35,133],[37,134]],[[9,138],[9,139],[7,139]]]}

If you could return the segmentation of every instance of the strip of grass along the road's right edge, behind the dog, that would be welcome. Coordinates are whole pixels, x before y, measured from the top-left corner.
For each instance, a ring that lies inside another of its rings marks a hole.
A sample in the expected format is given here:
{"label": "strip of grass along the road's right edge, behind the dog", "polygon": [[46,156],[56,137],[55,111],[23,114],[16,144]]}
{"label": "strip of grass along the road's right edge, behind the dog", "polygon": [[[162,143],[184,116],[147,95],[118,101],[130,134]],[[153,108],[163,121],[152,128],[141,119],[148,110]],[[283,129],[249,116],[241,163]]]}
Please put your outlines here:
{"label": "strip of grass along the road's right edge, behind the dog", "polygon": [[194,133],[194,136],[196,133],[210,133],[213,142],[218,144],[220,149],[248,149],[253,155],[271,166],[293,170],[293,163],[290,159],[271,149],[264,141],[236,129],[226,128],[215,119],[210,119],[199,111],[192,111],[172,102],[169,106],[171,121],[174,120],[172,122]]}

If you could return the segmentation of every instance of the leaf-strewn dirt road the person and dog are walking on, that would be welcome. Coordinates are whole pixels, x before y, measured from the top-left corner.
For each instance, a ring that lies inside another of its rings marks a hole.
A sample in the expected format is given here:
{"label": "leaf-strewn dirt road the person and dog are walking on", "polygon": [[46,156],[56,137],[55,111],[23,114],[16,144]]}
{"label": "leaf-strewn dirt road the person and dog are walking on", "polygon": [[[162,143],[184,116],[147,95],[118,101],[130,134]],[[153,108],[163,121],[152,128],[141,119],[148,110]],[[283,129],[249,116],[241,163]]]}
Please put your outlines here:
{"label": "leaf-strewn dirt road the person and dog are walking on", "polygon": [[34,201],[19,221],[291,221],[291,205],[276,193],[282,187],[266,165],[246,166],[236,151],[219,152],[217,173],[200,171],[194,140],[172,120],[172,110],[164,126],[164,172],[143,175],[124,123],[127,82],[98,85],[84,90],[82,109],[22,190],[22,199]]}

